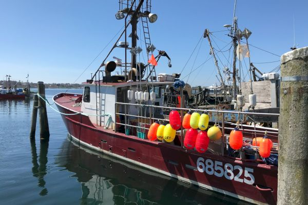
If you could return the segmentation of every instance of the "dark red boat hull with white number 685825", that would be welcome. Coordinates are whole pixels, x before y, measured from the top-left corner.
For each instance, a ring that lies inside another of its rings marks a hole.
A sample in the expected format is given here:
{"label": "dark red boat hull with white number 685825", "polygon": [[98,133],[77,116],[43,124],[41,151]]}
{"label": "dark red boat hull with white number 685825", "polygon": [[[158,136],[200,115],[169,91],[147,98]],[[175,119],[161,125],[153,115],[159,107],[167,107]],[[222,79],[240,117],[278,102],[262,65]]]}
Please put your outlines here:
{"label": "dark red boat hull with white number 685825", "polygon": [[[74,111],[59,104],[62,113]],[[152,142],[91,124],[88,116],[61,115],[71,138],[90,149],[178,180],[256,204],[276,204],[277,167]],[[262,188],[260,188],[262,187]]]}

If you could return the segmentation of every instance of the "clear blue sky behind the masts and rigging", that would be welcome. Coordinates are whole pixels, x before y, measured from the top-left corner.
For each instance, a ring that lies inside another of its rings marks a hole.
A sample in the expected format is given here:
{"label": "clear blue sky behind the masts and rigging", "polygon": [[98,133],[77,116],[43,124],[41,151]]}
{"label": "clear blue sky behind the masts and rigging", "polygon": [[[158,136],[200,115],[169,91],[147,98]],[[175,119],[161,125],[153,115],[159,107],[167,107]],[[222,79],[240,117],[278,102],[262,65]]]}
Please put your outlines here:
{"label": "clear blue sky behind the masts and rigging", "polygon": [[[234,1],[152,1],[152,12],[158,20],[150,24],[152,43],[159,50],[165,50],[171,57],[172,68],[167,60],[161,59],[157,73],[179,73],[196,47],[204,29],[225,30],[224,24],[232,24]],[[236,15],[239,28],[247,27],[253,32],[249,44],[281,55],[293,46],[293,16],[295,18],[295,40],[298,47],[308,46],[308,23],[306,9],[308,1],[243,1],[238,0]],[[118,1],[0,1],[0,79],[6,74],[12,79],[46,83],[82,83],[102,63],[113,42],[94,60],[110,39],[123,27],[124,20],[117,20],[114,14]],[[139,31],[140,32],[140,31]],[[219,50],[230,38],[228,32],[213,33]],[[140,35],[140,34],[139,34]],[[195,70],[208,57],[206,38],[192,54],[182,78]],[[144,43],[138,45],[144,48]],[[223,50],[227,50],[229,46]],[[144,49],[145,50],[145,49]],[[199,52],[197,52],[199,50]],[[198,55],[197,55],[198,53]],[[225,56],[218,53],[219,66],[227,64]],[[197,57],[196,57],[197,55]],[[112,56],[124,59],[122,50]],[[142,56],[141,56],[142,59]],[[251,47],[254,63],[277,61],[280,57]],[[246,64],[248,65],[248,59]],[[195,61],[195,64],[194,64]],[[256,64],[262,72],[268,72],[279,62]],[[244,66],[244,64],[243,64]],[[244,73],[246,68],[243,68]],[[213,60],[210,59],[189,76],[192,86],[210,86],[217,80]],[[184,81],[187,81],[184,78]],[[248,77],[246,76],[245,80]]]}

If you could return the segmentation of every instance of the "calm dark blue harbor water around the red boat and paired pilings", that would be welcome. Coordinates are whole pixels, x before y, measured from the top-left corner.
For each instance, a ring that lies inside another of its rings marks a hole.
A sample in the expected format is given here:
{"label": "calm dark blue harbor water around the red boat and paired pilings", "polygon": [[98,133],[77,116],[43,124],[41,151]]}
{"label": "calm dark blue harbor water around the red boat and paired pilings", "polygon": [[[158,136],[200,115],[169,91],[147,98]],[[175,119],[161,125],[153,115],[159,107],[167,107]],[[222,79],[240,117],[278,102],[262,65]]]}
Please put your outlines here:
{"label": "calm dark blue harbor water around the red boat and paired pilings", "polygon": [[[46,97],[52,104],[65,91]],[[246,204],[80,147],[49,107],[49,142],[40,142],[38,120],[30,140],[32,105],[0,100],[0,204]]]}

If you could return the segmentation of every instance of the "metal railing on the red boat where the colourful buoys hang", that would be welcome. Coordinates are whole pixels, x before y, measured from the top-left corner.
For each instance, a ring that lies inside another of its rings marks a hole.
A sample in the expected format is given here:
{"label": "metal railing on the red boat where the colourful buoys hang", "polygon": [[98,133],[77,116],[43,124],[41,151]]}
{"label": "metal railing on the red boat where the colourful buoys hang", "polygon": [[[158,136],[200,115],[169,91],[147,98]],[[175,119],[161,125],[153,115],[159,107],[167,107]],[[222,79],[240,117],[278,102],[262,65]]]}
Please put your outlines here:
{"label": "metal railing on the red boat where the colourful buoys hang", "polygon": [[[117,112],[118,111],[118,107],[119,106],[124,106],[124,113],[120,113]],[[141,115],[133,115],[133,114],[128,114],[127,110],[130,106],[136,106],[136,107],[142,107],[142,108],[149,108],[149,116],[141,116]],[[166,107],[166,106],[155,106],[155,105],[145,105],[145,104],[132,104],[132,103],[120,103],[117,102],[115,103],[115,114],[120,116],[124,116],[124,123],[122,122],[115,122],[115,126],[114,126],[114,131],[117,132],[118,126],[125,126],[125,130],[127,129],[127,127],[133,127],[133,128],[137,128],[137,129],[144,129],[144,130],[149,130],[149,128],[145,128],[145,127],[141,127],[140,125],[136,126],[136,125],[130,125],[128,123],[127,117],[136,117],[136,118],[142,118],[142,119],[149,119],[149,123],[147,124],[148,126],[151,125],[151,123],[154,120],[161,120],[161,121],[169,121],[168,118],[166,118],[166,116],[163,116],[164,118],[157,118],[157,117],[153,117],[153,113],[152,113],[152,108],[157,108],[157,109],[162,109],[165,111],[168,110],[177,110],[181,112],[181,116],[183,118],[183,112],[184,111],[195,111],[195,112],[203,112],[203,113],[216,113],[216,117],[217,120],[215,121],[215,124],[218,124],[218,126],[221,128],[222,130],[222,137],[221,137],[221,154],[224,155],[225,153],[225,149],[226,149],[226,134],[225,131],[226,130],[233,130],[234,128],[230,128],[230,127],[225,127],[225,123],[226,123],[226,115],[227,114],[234,114],[234,115],[238,115],[238,118],[245,118],[244,116],[246,116],[247,118],[250,118],[254,121],[254,116],[259,115],[259,116],[276,116],[278,117],[279,114],[278,113],[258,113],[258,112],[242,112],[242,111],[230,111],[230,110],[210,110],[210,109],[192,109],[192,108],[175,108],[175,107]],[[256,121],[254,121],[254,124],[256,123]],[[146,123],[144,123],[146,124]],[[228,124],[230,124],[230,122],[228,122]],[[211,126],[209,126],[211,127]],[[258,130],[256,129],[256,126],[252,127],[254,129],[246,129],[245,127],[241,126],[239,128],[239,130],[241,130],[242,132],[248,132],[251,134],[255,134],[256,137],[256,133],[259,134],[268,134],[268,135],[272,135],[272,136],[277,136],[278,133],[278,129],[264,129],[264,130]],[[260,128],[260,127],[258,127]],[[262,127],[261,127],[262,128]],[[183,136],[183,131],[185,129],[181,126],[180,130],[177,131],[177,134],[180,134],[180,139],[181,139],[181,146],[184,147],[184,136]],[[275,143],[276,144],[276,143]],[[259,148],[257,146],[251,146],[252,148]]]}

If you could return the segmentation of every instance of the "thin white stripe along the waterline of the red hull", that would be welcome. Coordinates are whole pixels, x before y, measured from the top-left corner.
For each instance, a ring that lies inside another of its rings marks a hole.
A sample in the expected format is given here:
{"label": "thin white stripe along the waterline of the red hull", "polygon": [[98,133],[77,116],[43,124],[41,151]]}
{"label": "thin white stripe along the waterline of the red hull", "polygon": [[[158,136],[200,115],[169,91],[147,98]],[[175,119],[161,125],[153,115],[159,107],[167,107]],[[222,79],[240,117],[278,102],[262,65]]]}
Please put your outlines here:
{"label": "thin white stripe along the waterline of the red hull", "polygon": [[212,190],[212,191],[216,191],[216,192],[219,192],[219,193],[222,193],[222,194],[225,194],[225,195],[228,195],[228,196],[232,196],[232,197],[235,197],[235,198],[238,198],[238,199],[241,199],[241,200],[244,200],[244,201],[248,201],[248,202],[251,202],[251,203],[255,203],[255,204],[266,204],[266,203],[262,203],[260,201],[256,201],[254,199],[251,199],[251,198],[247,198],[245,196],[241,196],[241,195],[237,195],[237,194],[234,194],[234,193],[231,193],[231,192],[227,192],[225,190],[222,190],[222,189],[218,189],[218,188],[215,188],[215,187],[211,187],[211,186],[208,186],[208,185],[205,185],[204,183],[200,183],[198,181],[194,181],[194,180],[190,180],[190,179],[187,179],[185,177],[181,177],[181,176],[178,176],[178,175],[175,175],[175,174],[171,174],[169,172],[166,172],[166,171],[163,171],[163,170],[160,170],[158,168],[155,168],[155,167],[152,167],[152,166],[149,166],[149,165],[146,165],[144,163],[141,163],[139,161],[135,161],[135,160],[132,160],[132,159],[129,159],[127,157],[123,157],[121,155],[118,155],[118,154],[114,154],[114,153],[111,153],[109,151],[106,151],[106,150],[103,150],[101,148],[98,148],[98,147],[95,147],[95,146],[92,146],[82,140],[79,140],[78,138],[74,137],[73,135],[69,134],[73,140],[75,140],[76,142],[79,142],[80,144],[84,145],[84,146],[87,146],[91,149],[94,149],[94,150],[97,150],[97,151],[100,151],[100,152],[103,152],[105,154],[108,154],[108,155],[111,155],[113,157],[117,157],[117,158],[120,158],[122,160],[125,160],[125,161],[129,161],[131,163],[134,163],[135,165],[139,165],[141,167],[145,167],[147,169],[150,169],[150,170],[153,170],[153,171],[156,171],[158,173],[162,173],[164,175],[167,175],[167,176],[170,176],[170,177],[174,177],[176,179],[179,179],[181,181],[184,181],[186,183],[191,183],[193,185],[198,185],[199,187],[202,187],[202,188],[205,188],[205,189],[208,189],[208,190]]}

